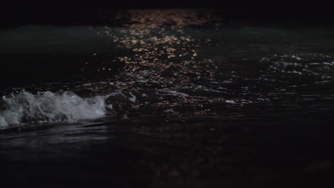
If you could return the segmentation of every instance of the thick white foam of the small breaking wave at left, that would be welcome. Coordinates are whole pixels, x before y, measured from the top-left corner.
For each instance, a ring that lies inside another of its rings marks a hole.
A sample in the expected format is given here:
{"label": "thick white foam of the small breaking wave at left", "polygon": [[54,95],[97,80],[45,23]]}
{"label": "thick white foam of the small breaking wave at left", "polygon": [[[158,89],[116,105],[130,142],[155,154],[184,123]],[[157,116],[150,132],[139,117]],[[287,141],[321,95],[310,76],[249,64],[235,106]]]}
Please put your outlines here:
{"label": "thick white foam of the small breaking wave at left", "polygon": [[24,122],[76,122],[103,117],[106,96],[81,98],[73,92],[32,94],[26,91],[2,97],[0,127]]}

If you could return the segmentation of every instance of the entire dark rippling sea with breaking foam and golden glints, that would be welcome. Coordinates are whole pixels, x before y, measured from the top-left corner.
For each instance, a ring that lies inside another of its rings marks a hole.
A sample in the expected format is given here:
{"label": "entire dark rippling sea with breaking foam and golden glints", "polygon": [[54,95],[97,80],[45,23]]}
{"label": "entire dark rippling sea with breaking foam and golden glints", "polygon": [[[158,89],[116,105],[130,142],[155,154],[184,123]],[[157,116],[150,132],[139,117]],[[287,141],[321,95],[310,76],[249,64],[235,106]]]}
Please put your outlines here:
{"label": "entire dark rippling sea with breaking foam and golden glints", "polygon": [[333,31],[193,9],[2,28],[1,182],[328,186]]}

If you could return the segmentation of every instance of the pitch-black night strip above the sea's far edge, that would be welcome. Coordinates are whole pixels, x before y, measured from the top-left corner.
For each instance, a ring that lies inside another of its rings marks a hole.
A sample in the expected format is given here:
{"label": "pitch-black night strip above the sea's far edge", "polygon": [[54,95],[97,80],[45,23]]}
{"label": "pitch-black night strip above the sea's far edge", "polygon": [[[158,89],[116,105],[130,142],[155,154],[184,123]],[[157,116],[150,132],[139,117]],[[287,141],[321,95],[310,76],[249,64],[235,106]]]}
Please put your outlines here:
{"label": "pitch-black night strip above the sea's far edge", "polygon": [[106,23],[119,9],[216,9],[226,21],[333,23],[333,6],[323,1],[11,1],[1,3],[2,26],[25,23]]}

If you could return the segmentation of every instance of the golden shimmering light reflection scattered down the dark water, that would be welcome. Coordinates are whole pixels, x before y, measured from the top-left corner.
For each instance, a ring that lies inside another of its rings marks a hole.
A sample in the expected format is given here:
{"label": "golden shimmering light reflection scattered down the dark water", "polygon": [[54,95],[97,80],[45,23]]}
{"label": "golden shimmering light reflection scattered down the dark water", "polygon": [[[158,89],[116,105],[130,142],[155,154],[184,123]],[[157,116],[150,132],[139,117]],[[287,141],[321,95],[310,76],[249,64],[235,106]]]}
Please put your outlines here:
{"label": "golden shimmering light reflection scattered down the dark water", "polygon": [[163,94],[157,99],[133,104],[133,110],[148,108],[149,105],[156,112],[164,109],[171,115],[186,114],[187,111],[193,115],[216,114],[203,105],[224,101],[223,97],[194,98],[177,93],[180,90],[192,93],[193,90],[203,90],[206,95],[206,88],[202,85],[213,80],[218,69],[215,61],[203,58],[198,51],[201,45],[211,46],[211,39],[198,38],[196,33],[188,31],[188,27],[213,21],[212,15],[210,11],[191,9],[132,10],[118,14],[116,19],[126,20],[121,27],[103,27],[100,33],[110,37],[118,49],[125,51],[113,59],[113,63],[126,65],[118,74],[118,83],[122,83],[120,88],[142,93],[154,90],[156,94],[149,98],[156,97],[159,90],[171,91],[171,95]]}

